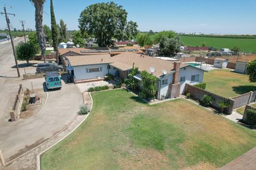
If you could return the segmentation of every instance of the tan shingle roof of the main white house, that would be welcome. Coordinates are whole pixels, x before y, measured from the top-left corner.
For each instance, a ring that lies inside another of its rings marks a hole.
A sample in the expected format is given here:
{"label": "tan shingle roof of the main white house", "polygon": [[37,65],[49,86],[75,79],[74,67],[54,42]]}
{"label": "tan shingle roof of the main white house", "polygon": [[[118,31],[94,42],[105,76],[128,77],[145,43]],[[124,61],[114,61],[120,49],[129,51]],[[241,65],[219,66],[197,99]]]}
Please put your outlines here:
{"label": "tan shingle roof of the main white house", "polygon": [[[111,66],[114,66],[119,70],[126,71],[132,69],[132,65],[134,63],[134,65],[139,68],[139,71],[145,70],[149,73],[149,68],[154,67],[156,71],[153,75],[156,77],[161,77],[161,75],[163,75],[163,70],[166,70],[167,74],[174,71],[173,61],[161,60],[159,58],[141,55],[134,52],[123,52],[113,57],[110,57],[109,54],[104,54],[67,56],[67,58],[71,66],[109,63]],[[185,66],[187,66],[187,64],[180,64],[180,67]]]}

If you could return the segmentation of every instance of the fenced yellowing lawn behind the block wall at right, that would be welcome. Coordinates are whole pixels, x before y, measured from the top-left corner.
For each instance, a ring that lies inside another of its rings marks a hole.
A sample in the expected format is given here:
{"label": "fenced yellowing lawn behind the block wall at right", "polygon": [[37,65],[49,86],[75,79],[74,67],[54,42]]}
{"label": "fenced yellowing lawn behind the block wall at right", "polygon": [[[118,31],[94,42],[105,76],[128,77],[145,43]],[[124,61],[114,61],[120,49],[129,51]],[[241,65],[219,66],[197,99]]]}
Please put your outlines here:
{"label": "fenced yellowing lawn behind the block wall at right", "polygon": [[228,69],[212,70],[204,73],[206,90],[223,97],[235,97],[256,90],[256,83],[249,81],[248,75]]}

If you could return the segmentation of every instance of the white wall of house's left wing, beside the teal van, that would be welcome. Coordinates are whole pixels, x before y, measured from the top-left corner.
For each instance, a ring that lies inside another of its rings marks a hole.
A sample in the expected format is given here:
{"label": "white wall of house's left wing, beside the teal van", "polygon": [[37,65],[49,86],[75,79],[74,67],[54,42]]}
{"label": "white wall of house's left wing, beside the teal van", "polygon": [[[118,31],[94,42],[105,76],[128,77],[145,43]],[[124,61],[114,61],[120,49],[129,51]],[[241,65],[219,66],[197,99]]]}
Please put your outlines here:
{"label": "white wall of house's left wing, beside the teal van", "polygon": [[[86,72],[86,69],[100,68],[99,72]],[[74,76],[76,80],[86,80],[86,79],[97,79],[98,77],[104,77],[108,74],[108,64],[93,64],[93,65],[83,65],[83,66],[73,66]]]}

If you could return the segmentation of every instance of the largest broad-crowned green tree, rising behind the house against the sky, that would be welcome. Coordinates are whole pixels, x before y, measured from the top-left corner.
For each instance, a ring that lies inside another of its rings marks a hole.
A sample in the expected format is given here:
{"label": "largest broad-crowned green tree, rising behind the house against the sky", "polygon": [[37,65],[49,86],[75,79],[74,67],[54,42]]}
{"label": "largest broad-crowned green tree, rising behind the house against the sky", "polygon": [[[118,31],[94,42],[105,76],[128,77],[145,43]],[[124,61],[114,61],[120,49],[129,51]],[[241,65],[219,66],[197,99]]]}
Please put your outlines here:
{"label": "largest broad-crowned green tree, rising behind the house against the sky", "polygon": [[126,25],[127,12],[114,2],[87,6],[78,19],[79,28],[94,36],[100,47],[113,44],[112,38],[120,38]]}

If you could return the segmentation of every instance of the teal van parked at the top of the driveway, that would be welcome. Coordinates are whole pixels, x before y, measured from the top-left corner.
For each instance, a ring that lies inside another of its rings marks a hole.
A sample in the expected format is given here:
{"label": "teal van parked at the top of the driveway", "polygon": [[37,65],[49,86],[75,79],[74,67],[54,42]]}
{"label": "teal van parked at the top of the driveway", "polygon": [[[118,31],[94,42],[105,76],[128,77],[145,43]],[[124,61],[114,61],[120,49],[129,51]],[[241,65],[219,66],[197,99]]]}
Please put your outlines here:
{"label": "teal van parked at the top of the driveway", "polygon": [[47,89],[61,89],[61,79],[57,71],[46,72],[45,84]]}

